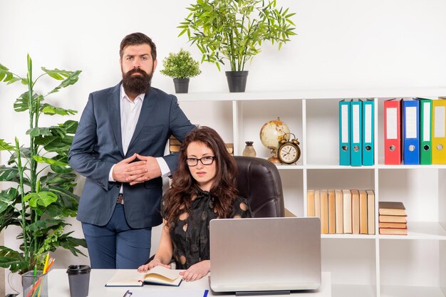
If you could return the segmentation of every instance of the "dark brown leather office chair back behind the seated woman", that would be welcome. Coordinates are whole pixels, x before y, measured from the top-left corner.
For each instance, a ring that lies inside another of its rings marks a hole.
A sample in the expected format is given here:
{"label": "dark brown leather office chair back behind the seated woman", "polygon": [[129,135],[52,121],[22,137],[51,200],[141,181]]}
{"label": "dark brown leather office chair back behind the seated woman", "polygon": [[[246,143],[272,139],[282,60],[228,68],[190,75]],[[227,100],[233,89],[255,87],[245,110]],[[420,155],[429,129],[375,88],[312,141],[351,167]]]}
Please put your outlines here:
{"label": "dark brown leather office chair back behind the seated woman", "polygon": [[248,199],[253,217],[284,217],[284,194],[276,165],[257,157],[234,156],[237,189]]}

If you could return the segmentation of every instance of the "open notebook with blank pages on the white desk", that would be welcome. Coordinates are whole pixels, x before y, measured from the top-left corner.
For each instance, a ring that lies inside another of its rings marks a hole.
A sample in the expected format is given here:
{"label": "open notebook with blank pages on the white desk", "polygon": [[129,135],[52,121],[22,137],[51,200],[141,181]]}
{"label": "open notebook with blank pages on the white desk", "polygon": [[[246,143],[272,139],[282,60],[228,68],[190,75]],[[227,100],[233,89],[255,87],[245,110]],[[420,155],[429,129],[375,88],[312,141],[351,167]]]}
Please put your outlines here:
{"label": "open notebook with blank pages on the white desk", "polygon": [[118,269],[105,286],[142,286],[144,283],[180,286],[181,281],[178,271],[155,266],[147,273],[140,273],[136,269]]}

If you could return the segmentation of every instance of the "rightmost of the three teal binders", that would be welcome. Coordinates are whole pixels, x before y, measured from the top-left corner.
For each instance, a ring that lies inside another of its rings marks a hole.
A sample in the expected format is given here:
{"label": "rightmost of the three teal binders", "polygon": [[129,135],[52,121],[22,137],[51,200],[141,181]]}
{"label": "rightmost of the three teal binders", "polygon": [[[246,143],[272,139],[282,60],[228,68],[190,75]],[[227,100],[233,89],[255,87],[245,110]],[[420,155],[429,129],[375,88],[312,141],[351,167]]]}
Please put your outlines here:
{"label": "rightmost of the three teal binders", "polygon": [[363,143],[363,165],[371,166],[375,164],[375,102],[373,99],[363,101],[363,127],[362,127],[362,143]]}

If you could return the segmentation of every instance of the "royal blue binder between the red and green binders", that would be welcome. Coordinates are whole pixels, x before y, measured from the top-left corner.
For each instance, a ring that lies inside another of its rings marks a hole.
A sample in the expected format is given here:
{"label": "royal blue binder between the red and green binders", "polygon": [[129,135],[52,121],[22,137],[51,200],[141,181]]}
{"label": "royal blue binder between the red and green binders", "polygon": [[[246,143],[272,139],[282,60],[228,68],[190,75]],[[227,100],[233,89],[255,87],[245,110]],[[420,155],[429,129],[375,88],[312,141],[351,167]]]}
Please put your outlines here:
{"label": "royal blue binder between the red and green binders", "polygon": [[403,100],[403,162],[420,164],[420,102]]}

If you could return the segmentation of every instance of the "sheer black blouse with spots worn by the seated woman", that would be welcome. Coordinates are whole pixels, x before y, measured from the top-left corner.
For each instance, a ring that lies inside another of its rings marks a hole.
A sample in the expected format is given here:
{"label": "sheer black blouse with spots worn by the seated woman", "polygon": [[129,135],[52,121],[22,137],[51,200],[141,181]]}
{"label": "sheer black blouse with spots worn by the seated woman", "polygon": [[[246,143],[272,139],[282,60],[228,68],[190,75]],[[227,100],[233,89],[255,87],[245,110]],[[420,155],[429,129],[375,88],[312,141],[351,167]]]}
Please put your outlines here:
{"label": "sheer black blouse with spots worn by the seated woman", "polygon": [[[209,222],[217,219],[212,205],[213,198],[207,191],[199,189],[192,202],[190,213],[185,212],[173,222],[170,239],[176,269],[188,269],[199,261],[209,260]],[[252,217],[247,199],[238,197],[232,204],[229,218]]]}

